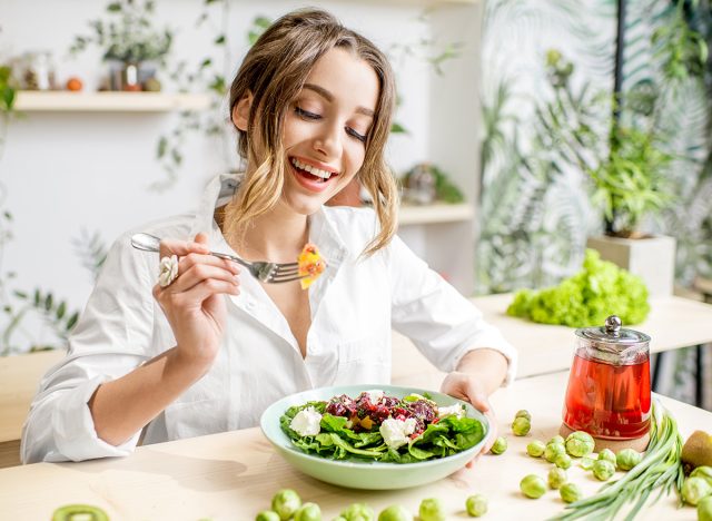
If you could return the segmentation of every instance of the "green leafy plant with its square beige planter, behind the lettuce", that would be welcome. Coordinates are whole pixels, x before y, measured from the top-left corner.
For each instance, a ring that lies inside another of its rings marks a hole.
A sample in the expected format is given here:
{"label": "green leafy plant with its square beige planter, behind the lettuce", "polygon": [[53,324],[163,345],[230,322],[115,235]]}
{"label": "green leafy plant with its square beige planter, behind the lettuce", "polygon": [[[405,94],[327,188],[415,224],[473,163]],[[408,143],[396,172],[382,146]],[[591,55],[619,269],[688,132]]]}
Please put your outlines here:
{"label": "green leafy plant with its square beige planter, behind the lettuce", "polygon": [[[556,50],[550,51],[546,58],[556,106],[572,106],[568,111],[556,114],[555,119],[573,121],[573,125],[560,122],[550,128],[556,134],[556,141],[566,157],[573,158],[572,164],[585,174],[591,186],[591,201],[603,214],[603,235],[590,237],[586,246],[599,250],[604,260],[641,276],[651,295],[670,295],[674,282],[675,239],[643,230],[649,218],[660,216],[672,203],[665,177],[673,157],[663,150],[662,136],[653,125],[655,100],[647,100],[649,114],[643,114],[637,125],[624,125],[614,116],[607,139],[601,139],[601,130],[592,131],[600,105],[607,100],[616,114],[622,95],[611,99],[607,95],[587,98],[574,92],[570,81],[573,65]],[[578,105],[574,106],[572,100],[580,100]],[[630,94],[631,106],[633,100],[635,96]],[[643,105],[641,100],[636,102]]]}

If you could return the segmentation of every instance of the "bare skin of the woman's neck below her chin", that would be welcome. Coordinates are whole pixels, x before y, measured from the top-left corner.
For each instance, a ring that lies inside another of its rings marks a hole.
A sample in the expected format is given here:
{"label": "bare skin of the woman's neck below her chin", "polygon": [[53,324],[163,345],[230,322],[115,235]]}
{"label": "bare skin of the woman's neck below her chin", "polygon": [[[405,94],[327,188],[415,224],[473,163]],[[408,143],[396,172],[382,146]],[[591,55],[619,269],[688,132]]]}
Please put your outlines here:
{"label": "bare skin of the woman's neck below her chin", "polygon": [[278,203],[253,220],[239,252],[248,260],[293,263],[309,240],[306,215],[296,214]]}

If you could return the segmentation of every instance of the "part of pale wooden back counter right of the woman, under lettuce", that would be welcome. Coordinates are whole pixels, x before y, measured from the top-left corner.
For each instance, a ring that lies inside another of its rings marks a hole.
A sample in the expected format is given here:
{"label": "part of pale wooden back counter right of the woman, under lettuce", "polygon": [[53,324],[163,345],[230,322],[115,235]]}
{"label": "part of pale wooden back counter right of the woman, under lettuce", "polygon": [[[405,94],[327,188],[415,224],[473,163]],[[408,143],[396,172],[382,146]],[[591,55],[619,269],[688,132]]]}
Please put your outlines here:
{"label": "part of pale wooden back counter right of the woman, under lettuce", "polygon": [[[510,316],[506,308],[512,298],[511,294],[501,294],[475,297],[472,302],[482,311],[485,320],[497,326],[517,348],[517,377],[571,367],[575,328],[536,324]],[[712,305],[676,296],[653,297],[650,302],[647,320],[630,327],[650,335],[652,353],[712,342]],[[394,333],[393,350],[394,361],[408,360],[408,364],[394,364],[394,379],[425,375],[433,371],[424,356],[413,354],[413,344],[405,336]]]}

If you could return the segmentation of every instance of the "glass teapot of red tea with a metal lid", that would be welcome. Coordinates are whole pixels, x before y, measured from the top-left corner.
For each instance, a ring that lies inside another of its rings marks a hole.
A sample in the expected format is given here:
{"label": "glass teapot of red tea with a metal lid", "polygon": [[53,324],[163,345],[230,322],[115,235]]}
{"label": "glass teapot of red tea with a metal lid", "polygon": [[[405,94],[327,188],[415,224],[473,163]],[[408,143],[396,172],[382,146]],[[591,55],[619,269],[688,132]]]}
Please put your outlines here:
{"label": "glass teapot of red tea with a metal lid", "polygon": [[576,350],[564,402],[564,424],[605,440],[647,434],[651,414],[650,336],[621,327],[576,330]]}

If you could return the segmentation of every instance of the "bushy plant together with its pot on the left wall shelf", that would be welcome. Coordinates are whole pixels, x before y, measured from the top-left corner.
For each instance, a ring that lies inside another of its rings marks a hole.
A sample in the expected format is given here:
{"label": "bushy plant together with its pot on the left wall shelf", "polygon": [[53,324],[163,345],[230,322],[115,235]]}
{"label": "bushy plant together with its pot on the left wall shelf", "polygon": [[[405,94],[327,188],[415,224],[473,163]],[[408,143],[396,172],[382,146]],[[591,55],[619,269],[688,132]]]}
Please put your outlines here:
{"label": "bushy plant together with its pot on the left wall shelf", "polygon": [[[112,90],[141,90],[152,78],[155,65],[165,66],[172,43],[172,31],[152,27],[155,2],[142,4],[134,0],[119,0],[107,6],[107,20],[91,20],[92,35],[78,36],[70,52],[83,51],[95,43],[103,48],[103,60],[112,62]],[[152,81],[151,83],[155,83]],[[155,86],[150,90],[156,90]]]}

